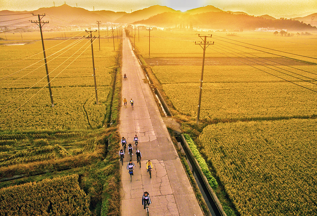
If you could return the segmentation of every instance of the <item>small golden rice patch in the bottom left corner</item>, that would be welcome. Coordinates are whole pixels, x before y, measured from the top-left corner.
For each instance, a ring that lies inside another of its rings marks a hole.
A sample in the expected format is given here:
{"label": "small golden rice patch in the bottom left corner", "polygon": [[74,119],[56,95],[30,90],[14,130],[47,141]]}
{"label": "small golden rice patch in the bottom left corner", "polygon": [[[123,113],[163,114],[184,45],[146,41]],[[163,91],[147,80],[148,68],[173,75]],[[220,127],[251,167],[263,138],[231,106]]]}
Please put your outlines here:
{"label": "small golden rice patch in the bottom left corner", "polygon": [[78,175],[0,189],[1,215],[91,215]]}

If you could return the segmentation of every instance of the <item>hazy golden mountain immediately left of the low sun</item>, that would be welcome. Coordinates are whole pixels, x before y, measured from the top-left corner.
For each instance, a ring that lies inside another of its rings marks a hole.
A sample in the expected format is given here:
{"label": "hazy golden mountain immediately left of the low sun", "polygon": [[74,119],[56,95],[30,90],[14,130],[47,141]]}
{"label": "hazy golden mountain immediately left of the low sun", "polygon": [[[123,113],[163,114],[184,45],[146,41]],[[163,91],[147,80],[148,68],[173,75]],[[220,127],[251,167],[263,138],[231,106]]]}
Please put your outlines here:
{"label": "hazy golden mountain immediately left of the low sun", "polygon": [[138,20],[148,19],[151,16],[158,15],[165,12],[177,12],[174,9],[168,8],[166,6],[154,5],[142,10],[136,10],[132,13],[125,14],[118,18],[115,22],[121,24],[128,24]]}

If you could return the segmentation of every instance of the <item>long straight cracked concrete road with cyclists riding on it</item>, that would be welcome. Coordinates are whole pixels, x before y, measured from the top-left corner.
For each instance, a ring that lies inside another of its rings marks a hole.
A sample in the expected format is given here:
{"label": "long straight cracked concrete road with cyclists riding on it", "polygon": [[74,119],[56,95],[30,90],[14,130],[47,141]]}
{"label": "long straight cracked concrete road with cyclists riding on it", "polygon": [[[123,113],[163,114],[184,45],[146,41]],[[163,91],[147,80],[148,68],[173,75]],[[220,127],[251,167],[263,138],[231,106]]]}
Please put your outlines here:
{"label": "long straight cracked concrete road with cyclists riding on it", "polygon": [[[149,85],[135,57],[131,43],[124,34],[122,74],[122,96],[127,101],[132,98],[131,106],[121,107],[120,134],[128,143],[133,143],[135,134],[139,137],[138,148],[142,153],[141,168],[136,163],[133,144],[132,156],[136,168],[132,182],[126,170],[130,156],[126,153],[122,166],[121,214],[123,216],[146,215],[141,198],[144,191],[149,192],[152,205],[150,215],[202,216],[193,189],[177,155],[166,126],[161,118]],[[123,77],[123,76],[122,76]],[[146,172],[146,161],[153,164],[152,178]]]}

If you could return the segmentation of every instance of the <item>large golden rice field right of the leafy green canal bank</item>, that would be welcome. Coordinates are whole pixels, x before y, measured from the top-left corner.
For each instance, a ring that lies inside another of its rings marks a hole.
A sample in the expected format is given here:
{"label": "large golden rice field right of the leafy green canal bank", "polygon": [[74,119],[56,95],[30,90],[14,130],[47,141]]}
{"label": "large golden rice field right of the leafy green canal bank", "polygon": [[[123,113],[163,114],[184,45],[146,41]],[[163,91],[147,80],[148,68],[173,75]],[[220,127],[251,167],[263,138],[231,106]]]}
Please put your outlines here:
{"label": "large golden rice field right of the leafy green canal bank", "polygon": [[314,215],[316,126],[316,119],[218,123],[199,141],[241,215]]}

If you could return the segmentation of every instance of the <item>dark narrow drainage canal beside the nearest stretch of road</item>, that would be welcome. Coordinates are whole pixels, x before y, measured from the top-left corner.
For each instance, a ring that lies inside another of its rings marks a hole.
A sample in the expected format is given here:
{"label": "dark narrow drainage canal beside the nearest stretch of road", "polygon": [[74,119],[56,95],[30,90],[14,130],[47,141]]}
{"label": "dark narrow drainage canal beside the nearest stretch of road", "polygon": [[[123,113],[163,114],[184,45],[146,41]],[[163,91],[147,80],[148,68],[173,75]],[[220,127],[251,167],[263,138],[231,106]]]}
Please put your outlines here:
{"label": "dark narrow drainage canal beside the nearest stretch of road", "polygon": [[195,180],[197,182],[197,185],[204,197],[204,200],[209,208],[209,211],[211,213],[212,216],[220,216],[221,214],[219,213],[219,210],[217,208],[217,206],[215,205],[215,202],[213,201],[204,181],[203,181],[203,178],[202,176],[200,175],[200,173],[198,172],[194,162],[193,162],[193,159],[191,158],[191,155],[188,153],[186,147],[184,146],[184,142],[183,140],[179,137],[179,136],[175,136],[177,142],[181,145],[181,149],[184,150],[185,152],[185,155],[186,155],[186,160],[187,160],[187,163],[189,165],[189,167],[191,168],[191,172],[193,173],[194,177],[195,177]]}

